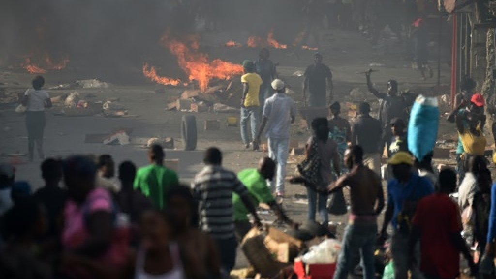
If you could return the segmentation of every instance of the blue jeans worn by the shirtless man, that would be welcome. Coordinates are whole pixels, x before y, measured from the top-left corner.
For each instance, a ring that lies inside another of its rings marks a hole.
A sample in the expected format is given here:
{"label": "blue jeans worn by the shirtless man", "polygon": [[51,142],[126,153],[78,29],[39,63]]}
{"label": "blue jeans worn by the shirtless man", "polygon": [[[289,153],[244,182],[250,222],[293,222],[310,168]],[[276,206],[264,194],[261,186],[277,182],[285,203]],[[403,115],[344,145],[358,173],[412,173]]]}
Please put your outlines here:
{"label": "blue jeans worn by the shirtless man", "polygon": [[343,236],[334,279],[346,279],[354,268],[353,258],[359,252],[362,256],[364,279],[375,279],[375,243],[377,241],[377,224],[349,224]]}

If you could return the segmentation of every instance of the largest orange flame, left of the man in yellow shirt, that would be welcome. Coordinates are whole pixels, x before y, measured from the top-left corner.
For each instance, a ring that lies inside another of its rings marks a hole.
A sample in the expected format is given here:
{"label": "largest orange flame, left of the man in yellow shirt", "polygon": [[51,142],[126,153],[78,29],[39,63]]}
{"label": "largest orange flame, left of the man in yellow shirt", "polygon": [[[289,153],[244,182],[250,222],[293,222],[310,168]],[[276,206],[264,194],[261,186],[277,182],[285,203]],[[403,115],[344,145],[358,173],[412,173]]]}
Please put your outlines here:
{"label": "largest orange flame, left of the man in yellow shirt", "polygon": [[178,64],[187,74],[188,79],[198,81],[200,90],[205,91],[212,78],[229,79],[243,73],[241,65],[232,64],[220,59],[208,61],[208,55],[198,52],[198,38],[189,36],[184,41],[169,39],[167,35],[161,39],[178,59]]}

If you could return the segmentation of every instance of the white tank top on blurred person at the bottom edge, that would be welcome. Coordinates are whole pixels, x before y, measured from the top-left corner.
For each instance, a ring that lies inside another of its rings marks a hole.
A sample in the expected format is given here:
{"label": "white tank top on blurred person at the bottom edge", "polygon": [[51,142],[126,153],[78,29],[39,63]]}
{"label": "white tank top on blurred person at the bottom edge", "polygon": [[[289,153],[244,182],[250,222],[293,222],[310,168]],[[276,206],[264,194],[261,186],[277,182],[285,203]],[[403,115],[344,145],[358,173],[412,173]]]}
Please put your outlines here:
{"label": "white tank top on blurred person at the bottom edge", "polygon": [[169,244],[169,251],[171,252],[174,268],[164,274],[154,275],[148,274],[144,270],[145,265],[145,250],[139,249],[138,257],[136,259],[136,274],[134,279],[186,279],[183,271],[183,264],[181,262],[181,255],[177,243]]}

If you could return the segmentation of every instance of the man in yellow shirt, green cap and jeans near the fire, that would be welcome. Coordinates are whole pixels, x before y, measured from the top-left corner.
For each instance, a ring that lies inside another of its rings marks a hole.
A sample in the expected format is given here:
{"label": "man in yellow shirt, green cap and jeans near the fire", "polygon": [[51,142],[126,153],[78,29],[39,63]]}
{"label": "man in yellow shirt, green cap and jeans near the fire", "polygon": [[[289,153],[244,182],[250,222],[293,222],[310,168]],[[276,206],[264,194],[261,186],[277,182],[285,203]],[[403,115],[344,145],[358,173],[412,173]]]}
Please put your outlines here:
{"label": "man in yellow shirt, green cap and jeans near the fire", "polygon": [[[258,131],[260,102],[258,95],[262,79],[255,73],[255,65],[249,60],[243,62],[245,74],[241,77],[243,83],[243,99],[241,100],[241,138],[245,147],[249,148],[251,139],[255,139]],[[251,126],[251,139],[248,132],[248,120]],[[253,144],[253,150],[258,150],[258,144]]]}

